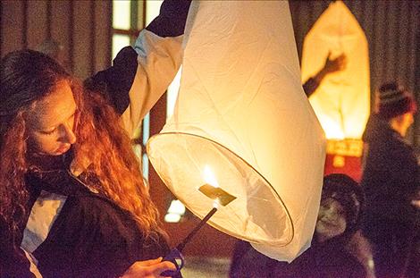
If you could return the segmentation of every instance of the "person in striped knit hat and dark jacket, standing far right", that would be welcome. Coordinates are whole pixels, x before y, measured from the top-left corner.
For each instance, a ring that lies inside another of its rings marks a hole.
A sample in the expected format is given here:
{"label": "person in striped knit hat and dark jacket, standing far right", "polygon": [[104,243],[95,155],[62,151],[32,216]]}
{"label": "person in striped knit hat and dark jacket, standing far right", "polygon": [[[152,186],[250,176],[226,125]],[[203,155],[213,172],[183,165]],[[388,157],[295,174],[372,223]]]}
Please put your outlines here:
{"label": "person in striped knit hat and dark jacket, standing far right", "polygon": [[[396,82],[384,83],[377,91],[376,113],[369,118],[364,140],[366,209],[363,233],[371,242],[376,276],[399,277],[409,256],[419,198],[419,166],[414,149],[404,137],[414,122],[416,101]],[[418,236],[418,235],[416,235]],[[418,264],[414,277],[418,277]],[[414,270],[413,270],[414,271]],[[411,277],[406,273],[407,277]]]}

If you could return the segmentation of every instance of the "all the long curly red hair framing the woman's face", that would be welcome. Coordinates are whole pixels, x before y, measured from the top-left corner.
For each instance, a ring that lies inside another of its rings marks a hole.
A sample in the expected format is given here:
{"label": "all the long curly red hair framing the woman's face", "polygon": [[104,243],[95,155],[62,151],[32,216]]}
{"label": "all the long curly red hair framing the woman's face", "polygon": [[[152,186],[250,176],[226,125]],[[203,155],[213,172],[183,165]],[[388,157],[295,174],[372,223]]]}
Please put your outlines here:
{"label": "all the long curly red hair framing the woman's face", "polygon": [[33,50],[4,56],[0,63],[0,220],[15,239],[28,214],[29,171],[27,119],[37,102],[67,81],[77,105],[72,165],[84,170],[83,181],[129,211],[143,236],[164,234],[158,212],[144,184],[137,156],[119,117],[104,97],[85,92],[79,80],[54,59]]}

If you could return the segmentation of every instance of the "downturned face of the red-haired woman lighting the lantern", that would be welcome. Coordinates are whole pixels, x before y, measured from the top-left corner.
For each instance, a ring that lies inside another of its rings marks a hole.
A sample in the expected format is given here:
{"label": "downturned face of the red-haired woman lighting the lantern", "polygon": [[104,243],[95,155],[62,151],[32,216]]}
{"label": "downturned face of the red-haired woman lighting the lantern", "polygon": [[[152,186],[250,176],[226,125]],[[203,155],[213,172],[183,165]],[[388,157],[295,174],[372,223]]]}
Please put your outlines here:
{"label": "downturned face of the red-haired woman lighting the lantern", "polygon": [[44,156],[67,152],[76,142],[73,132],[76,108],[68,81],[59,81],[29,115],[29,149]]}

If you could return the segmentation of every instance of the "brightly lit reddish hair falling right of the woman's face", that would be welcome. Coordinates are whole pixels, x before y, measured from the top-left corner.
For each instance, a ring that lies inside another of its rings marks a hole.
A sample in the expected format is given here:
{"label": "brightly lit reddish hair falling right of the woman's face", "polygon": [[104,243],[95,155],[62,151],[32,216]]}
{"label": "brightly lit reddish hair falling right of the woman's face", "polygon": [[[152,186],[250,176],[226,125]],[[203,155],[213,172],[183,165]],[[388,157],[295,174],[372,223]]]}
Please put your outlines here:
{"label": "brightly lit reddish hair falling right of the woman's face", "polygon": [[163,233],[138,157],[119,116],[97,92],[81,94],[78,88],[72,90],[80,107],[75,123],[74,164],[88,164],[84,182],[130,211],[146,236],[154,231]]}

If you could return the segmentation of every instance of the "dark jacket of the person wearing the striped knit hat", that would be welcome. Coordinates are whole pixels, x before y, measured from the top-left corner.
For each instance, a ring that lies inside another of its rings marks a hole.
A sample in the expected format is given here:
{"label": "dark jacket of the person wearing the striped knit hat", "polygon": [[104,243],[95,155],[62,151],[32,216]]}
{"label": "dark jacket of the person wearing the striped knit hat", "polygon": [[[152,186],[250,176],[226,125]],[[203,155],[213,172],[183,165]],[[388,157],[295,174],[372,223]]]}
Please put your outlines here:
{"label": "dark jacket of the person wearing the striped knit hat", "polygon": [[[368,147],[361,181],[366,198],[365,216],[413,222],[416,209],[410,201],[420,190],[419,167],[413,148],[377,115],[367,122],[363,140]],[[370,222],[364,225],[369,226]]]}

